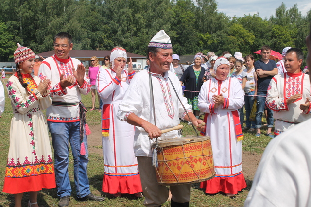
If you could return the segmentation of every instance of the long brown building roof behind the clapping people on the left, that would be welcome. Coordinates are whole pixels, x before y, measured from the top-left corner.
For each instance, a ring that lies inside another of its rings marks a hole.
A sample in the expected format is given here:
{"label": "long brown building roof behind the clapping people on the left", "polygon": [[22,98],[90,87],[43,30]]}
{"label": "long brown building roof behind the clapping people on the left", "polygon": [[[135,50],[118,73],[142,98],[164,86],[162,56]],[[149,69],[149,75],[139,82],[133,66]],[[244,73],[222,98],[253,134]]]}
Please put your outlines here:
{"label": "long brown building roof behind the clapping people on the left", "polygon": [[[36,55],[41,55],[44,58],[51,57],[54,55],[54,51],[42,52]],[[97,58],[104,58],[107,55],[110,55],[111,51],[92,51],[92,50],[72,50],[70,51],[70,57],[74,58],[91,58],[96,56]],[[132,57],[136,59],[146,59],[146,56],[134,54],[131,52],[126,52],[127,58]]]}

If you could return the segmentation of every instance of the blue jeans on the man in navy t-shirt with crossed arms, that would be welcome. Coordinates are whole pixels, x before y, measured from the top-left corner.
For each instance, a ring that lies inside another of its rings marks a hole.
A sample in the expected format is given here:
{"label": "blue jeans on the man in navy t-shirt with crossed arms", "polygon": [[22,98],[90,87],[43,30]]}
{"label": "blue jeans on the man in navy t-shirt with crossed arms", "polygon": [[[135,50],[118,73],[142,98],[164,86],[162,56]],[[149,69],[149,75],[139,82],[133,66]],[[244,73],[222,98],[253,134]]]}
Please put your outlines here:
{"label": "blue jeans on the man in navy t-shirt with crossed arms", "polygon": [[[264,107],[265,107],[265,102],[266,102],[266,97],[260,97],[260,96],[266,96],[266,92],[257,92],[256,100],[257,100],[257,110],[256,110],[256,128],[261,128],[261,118],[262,118],[262,113],[264,112]],[[272,128],[273,127],[273,111],[267,107],[267,127]]]}

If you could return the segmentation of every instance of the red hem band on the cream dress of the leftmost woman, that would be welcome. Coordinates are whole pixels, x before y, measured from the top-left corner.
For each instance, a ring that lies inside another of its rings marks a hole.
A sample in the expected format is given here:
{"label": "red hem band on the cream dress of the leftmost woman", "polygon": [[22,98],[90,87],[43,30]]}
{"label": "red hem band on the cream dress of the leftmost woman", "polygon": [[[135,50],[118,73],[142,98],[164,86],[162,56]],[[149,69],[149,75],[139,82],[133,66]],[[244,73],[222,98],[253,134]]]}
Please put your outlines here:
{"label": "red hem band on the cream dress of the leftmost woman", "polygon": [[54,173],[19,178],[5,177],[3,192],[17,194],[52,188],[56,188]]}

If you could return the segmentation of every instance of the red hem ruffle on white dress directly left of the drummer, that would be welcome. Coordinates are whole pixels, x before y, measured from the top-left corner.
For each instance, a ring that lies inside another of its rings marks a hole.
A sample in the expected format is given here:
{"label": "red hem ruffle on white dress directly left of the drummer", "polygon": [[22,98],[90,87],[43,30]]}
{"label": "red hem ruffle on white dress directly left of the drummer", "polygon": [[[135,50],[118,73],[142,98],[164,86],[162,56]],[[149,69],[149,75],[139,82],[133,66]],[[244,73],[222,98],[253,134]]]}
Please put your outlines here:
{"label": "red hem ruffle on white dress directly left of the drummer", "polygon": [[110,194],[142,192],[139,174],[131,176],[108,176],[104,174],[103,192]]}

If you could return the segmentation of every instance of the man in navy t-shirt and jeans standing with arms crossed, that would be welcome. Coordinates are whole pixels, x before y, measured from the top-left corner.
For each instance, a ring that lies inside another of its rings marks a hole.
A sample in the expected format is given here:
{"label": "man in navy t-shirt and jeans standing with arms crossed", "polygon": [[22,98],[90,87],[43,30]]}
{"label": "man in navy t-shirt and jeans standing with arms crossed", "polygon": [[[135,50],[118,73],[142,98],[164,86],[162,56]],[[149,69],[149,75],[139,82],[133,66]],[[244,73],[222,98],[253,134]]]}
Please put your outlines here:
{"label": "man in navy t-shirt and jeans standing with arms crossed", "polygon": [[[255,95],[259,95],[256,97],[257,99],[257,111],[256,111],[256,117],[255,117],[255,127],[256,127],[256,137],[260,137],[260,128],[261,128],[261,118],[262,113],[264,111],[265,107],[265,101],[266,101],[266,94],[267,89],[270,83],[270,80],[273,76],[277,74],[277,68],[276,68],[276,62],[273,60],[270,60],[270,53],[271,49],[269,46],[264,45],[261,48],[261,59],[256,61],[254,64],[255,72],[257,75],[257,83],[255,88]],[[271,133],[272,127],[273,127],[273,111],[269,108],[267,108],[267,135],[270,137],[274,137]]]}

